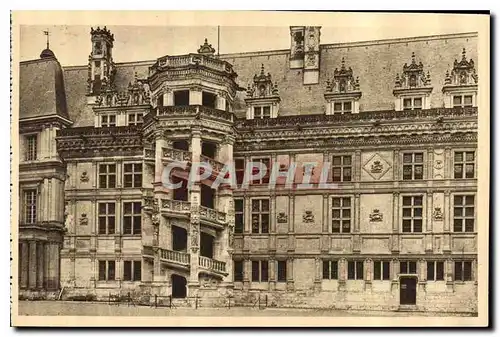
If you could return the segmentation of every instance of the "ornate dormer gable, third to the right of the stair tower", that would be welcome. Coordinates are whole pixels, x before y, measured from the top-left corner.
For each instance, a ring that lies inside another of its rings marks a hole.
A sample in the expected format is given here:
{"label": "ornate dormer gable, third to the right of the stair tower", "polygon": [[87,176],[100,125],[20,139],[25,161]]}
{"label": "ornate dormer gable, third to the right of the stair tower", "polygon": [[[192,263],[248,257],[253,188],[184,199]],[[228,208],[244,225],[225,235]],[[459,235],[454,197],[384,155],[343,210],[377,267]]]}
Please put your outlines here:
{"label": "ornate dormer gable, third to the right of the stair tower", "polygon": [[430,109],[432,92],[431,76],[425,72],[422,62],[416,61],[415,53],[411,54],[411,63],[403,65],[403,72],[396,74],[394,83],[395,110]]}

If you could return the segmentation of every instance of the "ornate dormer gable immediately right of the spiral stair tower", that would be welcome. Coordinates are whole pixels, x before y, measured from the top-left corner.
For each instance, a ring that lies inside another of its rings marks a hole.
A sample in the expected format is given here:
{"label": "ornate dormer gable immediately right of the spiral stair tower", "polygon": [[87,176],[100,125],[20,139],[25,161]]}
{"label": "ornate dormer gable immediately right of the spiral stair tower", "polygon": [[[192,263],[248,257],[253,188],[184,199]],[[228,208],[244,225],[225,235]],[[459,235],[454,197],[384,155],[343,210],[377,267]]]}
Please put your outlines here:
{"label": "ornate dormer gable immediately right of the spiral stair tower", "polygon": [[260,73],[255,74],[253,83],[247,87],[247,119],[276,118],[279,110],[278,84],[273,83],[270,73],[265,73],[262,64]]}

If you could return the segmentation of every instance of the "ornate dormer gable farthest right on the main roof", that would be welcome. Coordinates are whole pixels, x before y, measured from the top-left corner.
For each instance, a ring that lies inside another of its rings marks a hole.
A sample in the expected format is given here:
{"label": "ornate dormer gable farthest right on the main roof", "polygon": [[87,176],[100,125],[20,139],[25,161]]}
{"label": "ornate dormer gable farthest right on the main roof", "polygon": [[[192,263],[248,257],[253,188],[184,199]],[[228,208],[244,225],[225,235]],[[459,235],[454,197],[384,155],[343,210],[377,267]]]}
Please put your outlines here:
{"label": "ornate dormer gable farthest right on the main roof", "polygon": [[478,76],[474,61],[467,61],[465,48],[460,62],[455,59],[451,73],[446,71],[443,93],[446,108],[477,106]]}

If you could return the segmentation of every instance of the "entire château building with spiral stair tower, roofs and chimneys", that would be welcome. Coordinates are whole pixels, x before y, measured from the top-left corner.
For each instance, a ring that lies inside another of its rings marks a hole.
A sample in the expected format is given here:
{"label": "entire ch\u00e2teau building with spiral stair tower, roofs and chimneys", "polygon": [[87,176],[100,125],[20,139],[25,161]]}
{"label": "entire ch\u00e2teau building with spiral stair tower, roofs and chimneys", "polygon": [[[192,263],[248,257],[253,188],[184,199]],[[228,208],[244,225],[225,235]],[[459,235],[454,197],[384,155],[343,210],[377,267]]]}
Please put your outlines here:
{"label": "entire ch\u00e2teau building with spiral stair tower, roofs and chimneys", "polygon": [[[21,292],[477,311],[477,34],[290,35],[115,63],[98,27],[87,65],[21,62]],[[173,162],[214,172],[169,189]],[[268,172],[211,188],[230,162]]]}

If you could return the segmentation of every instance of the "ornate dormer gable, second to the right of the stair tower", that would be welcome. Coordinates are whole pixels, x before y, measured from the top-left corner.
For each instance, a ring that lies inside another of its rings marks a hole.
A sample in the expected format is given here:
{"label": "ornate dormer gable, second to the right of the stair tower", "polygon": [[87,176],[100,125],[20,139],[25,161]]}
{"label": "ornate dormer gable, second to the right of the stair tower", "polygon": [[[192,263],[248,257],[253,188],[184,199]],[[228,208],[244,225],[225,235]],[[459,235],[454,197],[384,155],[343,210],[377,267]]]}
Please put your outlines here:
{"label": "ornate dormer gable, second to the right of the stair tower", "polygon": [[354,78],[351,67],[346,68],[342,58],[340,70],[335,68],[333,79],[326,82],[326,114],[359,113],[359,78]]}

